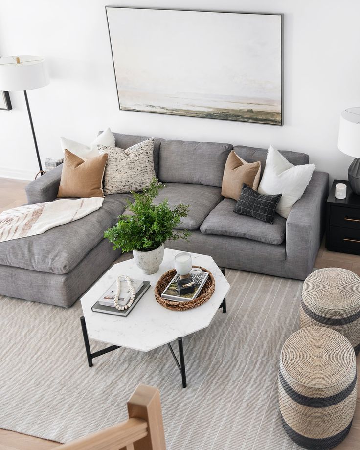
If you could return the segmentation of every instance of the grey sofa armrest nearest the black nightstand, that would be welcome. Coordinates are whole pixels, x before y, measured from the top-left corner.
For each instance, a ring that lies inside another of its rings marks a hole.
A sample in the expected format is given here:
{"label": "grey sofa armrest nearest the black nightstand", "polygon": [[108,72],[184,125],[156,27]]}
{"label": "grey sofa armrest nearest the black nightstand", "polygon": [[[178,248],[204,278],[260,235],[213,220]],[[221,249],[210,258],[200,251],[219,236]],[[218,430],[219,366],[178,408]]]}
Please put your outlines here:
{"label": "grey sofa armrest nearest the black nightstand", "polygon": [[304,279],[312,270],[325,229],[329,174],[313,177],[286,221],[286,259]]}

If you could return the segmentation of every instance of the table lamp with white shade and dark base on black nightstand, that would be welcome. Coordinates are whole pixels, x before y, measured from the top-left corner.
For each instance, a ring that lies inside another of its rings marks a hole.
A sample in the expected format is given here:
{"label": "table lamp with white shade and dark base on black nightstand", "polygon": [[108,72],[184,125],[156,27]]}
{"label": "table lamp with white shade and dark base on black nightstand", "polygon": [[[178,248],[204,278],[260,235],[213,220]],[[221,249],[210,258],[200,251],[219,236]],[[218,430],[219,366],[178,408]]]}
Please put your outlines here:
{"label": "table lamp with white shade and dark base on black nightstand", "polygon": [[337,147],[355,158],[347,173],[351,189],[360,195],[360,107],[341,112]]}

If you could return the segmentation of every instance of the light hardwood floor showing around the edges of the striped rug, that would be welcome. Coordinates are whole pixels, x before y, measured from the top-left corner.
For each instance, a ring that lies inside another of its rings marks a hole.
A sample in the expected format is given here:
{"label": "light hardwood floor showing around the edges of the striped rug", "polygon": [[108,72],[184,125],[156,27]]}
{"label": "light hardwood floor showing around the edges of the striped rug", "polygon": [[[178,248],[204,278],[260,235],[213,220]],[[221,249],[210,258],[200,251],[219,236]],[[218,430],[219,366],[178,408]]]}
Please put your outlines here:
{"label": "light hardwood floor showing around the edges of the striped rug", "polygon": [[[24,187],[28,181],[0,178],[0,212],[26,203]],[[342,267],[360,276],[360,256],[328,251],[324,242],[318,252],[315,267]],[[360,355],[357,358],[360,374]],[[48,450],[59,444],[26,434],[0,429],[0,450]],[[337,447],[339,450],[360,449],[360,376],[358,378],[357,409],[348,437]]]}

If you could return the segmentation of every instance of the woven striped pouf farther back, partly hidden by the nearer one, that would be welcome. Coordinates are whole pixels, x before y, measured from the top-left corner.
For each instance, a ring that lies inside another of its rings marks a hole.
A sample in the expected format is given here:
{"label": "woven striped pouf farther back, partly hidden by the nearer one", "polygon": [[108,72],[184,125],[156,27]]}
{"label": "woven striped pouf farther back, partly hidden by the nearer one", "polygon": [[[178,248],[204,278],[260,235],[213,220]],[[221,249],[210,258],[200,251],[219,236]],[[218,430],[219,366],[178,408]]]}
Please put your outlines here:
{"label": "woven striped pouf farther back, partly hidden by the nearer one", "polygon": [[350,270],[315,270],[304,281],[300,327],[333,328],[360,351],[360,278]]}

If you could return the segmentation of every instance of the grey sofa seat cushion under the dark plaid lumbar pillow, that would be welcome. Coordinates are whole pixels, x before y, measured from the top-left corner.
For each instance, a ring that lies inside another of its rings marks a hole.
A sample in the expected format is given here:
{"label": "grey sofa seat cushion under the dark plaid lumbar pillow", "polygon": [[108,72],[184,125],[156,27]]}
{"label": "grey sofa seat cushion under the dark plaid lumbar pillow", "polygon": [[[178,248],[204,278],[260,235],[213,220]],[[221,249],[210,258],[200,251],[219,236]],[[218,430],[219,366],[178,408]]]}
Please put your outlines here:
{"label": "grey sofa seat cushion under the dark plaid lumbar pillow", "polygon": [[286,219],[275,213],[274,223],[262,222],[234,212],[235,200],[222,200],[200,227],[203,234],[221,234],[252,239],[266,244],[281,244],[285,239]]}

